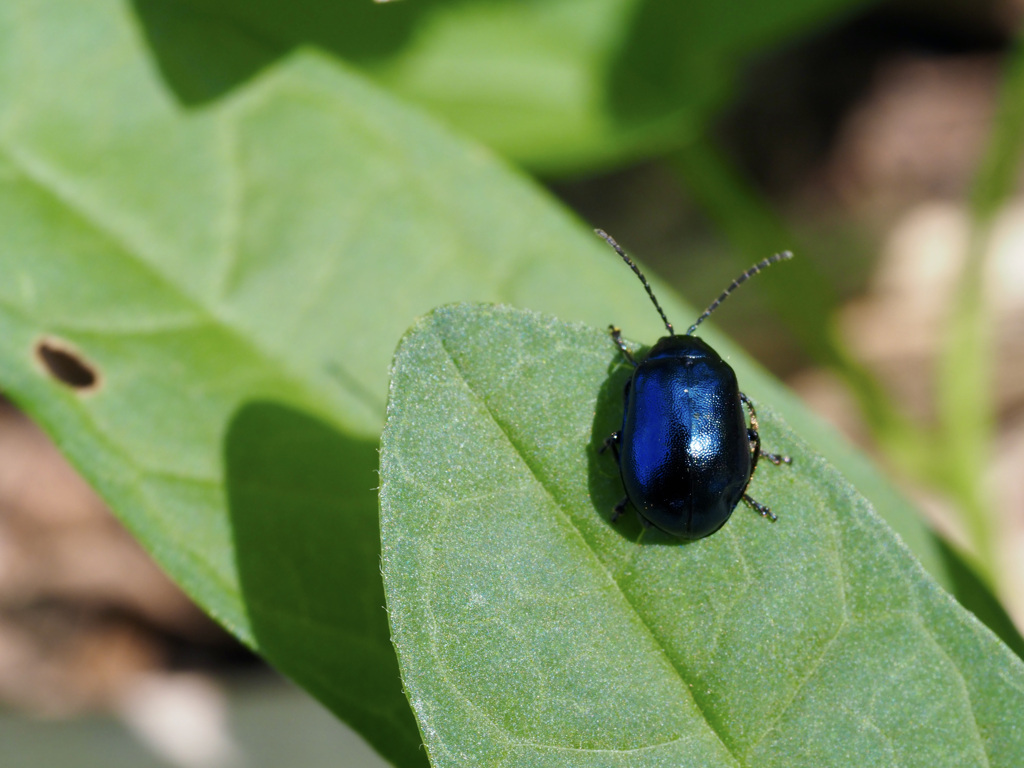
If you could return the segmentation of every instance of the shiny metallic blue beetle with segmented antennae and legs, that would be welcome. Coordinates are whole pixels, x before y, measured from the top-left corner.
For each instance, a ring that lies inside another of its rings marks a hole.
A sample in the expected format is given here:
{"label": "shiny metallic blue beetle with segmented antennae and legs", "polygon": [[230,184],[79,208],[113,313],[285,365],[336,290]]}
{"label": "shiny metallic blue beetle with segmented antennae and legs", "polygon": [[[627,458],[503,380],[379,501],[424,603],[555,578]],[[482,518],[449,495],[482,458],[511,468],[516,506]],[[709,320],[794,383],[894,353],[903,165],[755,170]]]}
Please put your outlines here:
{"label": "shiny metallic blue beetle with segmented antennae and legs", "polygon": [[647,525],[680,539],[702,539],[721,528],[742,500],[774,522],[778,518],[752,499],[746,487],[759,459],[775,465],[790,464],[791,459],[761,450],[754,403],[739,391],[732,368],[693,333],[740,284],[793,254],[783,251],[752,266],[686,334],[677,336],[639,267],[607,232],[595,231],[643,283],[669,331],[638,360],[621,331],[610,327],[612,340],[634,369],[624,394],[623,427],[601,447],[611,449],[626,488],[612,521],[632,504]]}

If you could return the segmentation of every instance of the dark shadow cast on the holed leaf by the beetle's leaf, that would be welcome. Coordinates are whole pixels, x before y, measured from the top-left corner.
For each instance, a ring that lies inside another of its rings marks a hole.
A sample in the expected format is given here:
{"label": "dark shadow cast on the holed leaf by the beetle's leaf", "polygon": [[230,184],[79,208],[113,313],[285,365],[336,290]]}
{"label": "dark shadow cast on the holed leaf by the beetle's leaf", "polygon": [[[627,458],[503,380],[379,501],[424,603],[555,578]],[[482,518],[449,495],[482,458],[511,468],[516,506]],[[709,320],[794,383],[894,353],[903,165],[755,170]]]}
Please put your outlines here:
{"label": "dark shadow cast on the holed leaf by the beetle's leaf", "polygon": [[232,419],[224,456],[258,650],[389,760],[426,766],[384,609],[377,444],[256,401]]}

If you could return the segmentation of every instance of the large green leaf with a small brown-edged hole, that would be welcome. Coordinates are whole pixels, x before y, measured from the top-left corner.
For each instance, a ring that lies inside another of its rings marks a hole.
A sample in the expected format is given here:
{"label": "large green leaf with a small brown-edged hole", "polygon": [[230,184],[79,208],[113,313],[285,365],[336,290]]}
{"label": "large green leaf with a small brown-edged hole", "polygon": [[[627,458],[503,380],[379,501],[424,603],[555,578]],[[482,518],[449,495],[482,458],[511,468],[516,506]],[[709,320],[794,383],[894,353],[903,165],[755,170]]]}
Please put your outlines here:
{"label": "large green leaf with a small brown-edged hole", "polygon": [[[309,52],[182,106],[120,0],[0,3],[0,274],[3,392],[207,611],[401,765],[425,756],[374,490],[398,338],[458,300],[660,331],[615,255],[478,146]],[[863,458],[708,338],[928,560]]]}

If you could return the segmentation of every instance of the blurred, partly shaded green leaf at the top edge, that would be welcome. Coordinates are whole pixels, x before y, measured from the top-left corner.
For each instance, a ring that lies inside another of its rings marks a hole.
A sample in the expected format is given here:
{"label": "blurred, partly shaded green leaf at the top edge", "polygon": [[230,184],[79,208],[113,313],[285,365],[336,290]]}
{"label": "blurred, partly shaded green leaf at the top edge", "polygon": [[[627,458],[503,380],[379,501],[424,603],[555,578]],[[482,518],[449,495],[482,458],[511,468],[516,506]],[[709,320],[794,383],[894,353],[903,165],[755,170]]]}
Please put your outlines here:
{"label": "blurred, partly shaded green leaf at the top edge", "polygon": [[502,154],[579,172],[696,135],[756,52],[864,0],[135,0],[188,102],[316,45]]}

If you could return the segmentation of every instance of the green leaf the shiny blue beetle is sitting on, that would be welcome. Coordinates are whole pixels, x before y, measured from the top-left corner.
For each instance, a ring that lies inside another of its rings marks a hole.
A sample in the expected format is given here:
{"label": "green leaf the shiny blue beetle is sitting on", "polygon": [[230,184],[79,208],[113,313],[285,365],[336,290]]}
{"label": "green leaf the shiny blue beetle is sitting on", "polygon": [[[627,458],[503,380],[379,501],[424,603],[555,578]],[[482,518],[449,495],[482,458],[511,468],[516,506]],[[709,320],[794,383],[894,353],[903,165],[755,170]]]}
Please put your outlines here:
{"label": "green leaf the shiny blue beetle is sitting on", "polygon": [[384,581],[433,765],[1021,765],[1024,665],[769,403],[776,524],[611,524],[629,373],[605,332],[507,307],[398,349]]}

